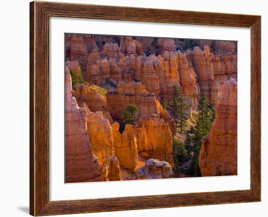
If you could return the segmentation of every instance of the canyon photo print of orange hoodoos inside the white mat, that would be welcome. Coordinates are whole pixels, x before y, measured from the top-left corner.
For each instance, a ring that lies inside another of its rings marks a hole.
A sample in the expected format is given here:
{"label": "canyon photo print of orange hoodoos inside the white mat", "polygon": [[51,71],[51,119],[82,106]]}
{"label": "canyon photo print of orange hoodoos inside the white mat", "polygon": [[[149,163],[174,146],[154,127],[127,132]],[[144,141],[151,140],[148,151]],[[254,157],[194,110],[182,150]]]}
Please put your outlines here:
{"label": "canyon photo print of orange hoodoos inside the white mat", "polygon": [[237,41],[65,33],[65,182],[237,175]]}

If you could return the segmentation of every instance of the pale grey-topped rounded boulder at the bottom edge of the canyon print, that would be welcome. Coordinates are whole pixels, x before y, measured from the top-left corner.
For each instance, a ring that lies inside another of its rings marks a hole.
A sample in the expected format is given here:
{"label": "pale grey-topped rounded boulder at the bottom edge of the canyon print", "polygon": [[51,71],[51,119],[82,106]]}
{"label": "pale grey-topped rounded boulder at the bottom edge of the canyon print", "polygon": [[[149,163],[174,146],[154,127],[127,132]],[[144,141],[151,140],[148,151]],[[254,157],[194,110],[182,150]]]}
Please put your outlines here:
{"label": "pale grey-topped rounded boulder at the bottom edge of the canyon print", "polygon": [[172,178],[171,165],[166,161],[149,159],[138,169],[138,179]]}

